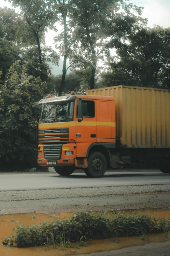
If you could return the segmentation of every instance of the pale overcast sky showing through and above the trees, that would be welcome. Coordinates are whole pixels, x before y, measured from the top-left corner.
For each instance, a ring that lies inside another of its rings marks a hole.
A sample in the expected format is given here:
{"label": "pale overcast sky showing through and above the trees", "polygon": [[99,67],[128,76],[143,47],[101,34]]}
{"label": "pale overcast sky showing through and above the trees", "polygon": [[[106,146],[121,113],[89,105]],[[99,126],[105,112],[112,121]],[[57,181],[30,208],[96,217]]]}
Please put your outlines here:
{"label": "pale overcast sky showing through and above the trees", "polygon": [[[170,27],[170,0],[130,0],[135,5],[144,7],[142,17],[148,19],[148,26],[153,27],[154,24]],[[0,7],[11,7],[8,1],[0,0]],[[17,9],[16,11],[19,11]],[[52,46],[53,37],[55,36],[54,31],[49,31],[46,35],[46,45]],[[59,63],[59,67],[54,66],[52,73],[61,74],[62,73],[62,60]]]}

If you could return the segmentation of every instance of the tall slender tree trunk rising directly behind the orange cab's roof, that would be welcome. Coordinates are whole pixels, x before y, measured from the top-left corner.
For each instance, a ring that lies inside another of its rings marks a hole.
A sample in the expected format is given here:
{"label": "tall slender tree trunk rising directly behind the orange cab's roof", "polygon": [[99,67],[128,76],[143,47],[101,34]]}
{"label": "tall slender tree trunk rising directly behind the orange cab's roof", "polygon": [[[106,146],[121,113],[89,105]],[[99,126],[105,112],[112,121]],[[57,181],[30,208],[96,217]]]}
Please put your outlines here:
{"label": "tall slender tree trunk rising directly behind the orange cab's roof", "polygon": [[67,14],[62,14],[63,16],[63,24],[64,24],[64,61],[63,61],[63,75],[62,75],[62,80],[59,88],[58,95],[62,96],[63,88],[64,88],[64,82],[65,82],[65,76],[66,76],[66,62],[67,62],[67,24],[66,24],[66,18]]}

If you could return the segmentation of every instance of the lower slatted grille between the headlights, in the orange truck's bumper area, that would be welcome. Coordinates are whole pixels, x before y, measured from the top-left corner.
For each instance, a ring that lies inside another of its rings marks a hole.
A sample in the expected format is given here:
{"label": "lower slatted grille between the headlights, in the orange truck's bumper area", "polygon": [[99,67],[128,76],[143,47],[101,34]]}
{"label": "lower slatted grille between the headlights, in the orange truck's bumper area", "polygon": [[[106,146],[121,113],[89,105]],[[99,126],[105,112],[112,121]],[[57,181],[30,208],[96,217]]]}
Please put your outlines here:
{"label": "lower slatted grille between the headlights, in the orange truck's bumper area", "polygon": [[62,145],[44,145],[44,158],[57,160],[61,158]]}

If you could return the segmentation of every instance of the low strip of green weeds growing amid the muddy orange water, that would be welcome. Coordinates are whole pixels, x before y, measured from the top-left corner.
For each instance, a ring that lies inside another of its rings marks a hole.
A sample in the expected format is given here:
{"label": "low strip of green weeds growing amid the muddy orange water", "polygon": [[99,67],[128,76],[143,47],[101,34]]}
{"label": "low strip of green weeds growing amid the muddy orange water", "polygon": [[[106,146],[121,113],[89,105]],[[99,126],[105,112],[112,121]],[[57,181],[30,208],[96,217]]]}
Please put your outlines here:
{"label": "low strip of green weeds growing amid the muddy orange water", "polygon": [[[28,247],[53,243],[62,238],[72,241],[92,239],[96,236],[116,237],[140,235],[150,232],[168,232],[170,219],[156,219],[147,214],[113,214],[88,213],[79,211],[68,219],[53,222],[41,222],[40,225],[18,225],[13,233],[3,239],[8,246]],[[64,234],[64,235],[63,235]],[[51,239],[52,238],[52,239]],[[61,242],[61,241],[60,241]]]}

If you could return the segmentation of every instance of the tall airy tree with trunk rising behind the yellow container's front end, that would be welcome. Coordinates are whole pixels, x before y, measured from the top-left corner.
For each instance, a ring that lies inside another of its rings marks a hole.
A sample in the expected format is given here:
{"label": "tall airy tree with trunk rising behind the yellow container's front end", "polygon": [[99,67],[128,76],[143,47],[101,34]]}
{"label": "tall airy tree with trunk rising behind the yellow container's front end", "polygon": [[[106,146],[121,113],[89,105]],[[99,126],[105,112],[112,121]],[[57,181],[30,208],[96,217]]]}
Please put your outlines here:
{"label": "tall airy tree with trunk rising behind the yellow container's front end", "polygon": [[77,26],[79,48],[74,49],[72,58],[77,59],[75,68],[91,69],[90,89],[93,89],[98,60],[104,61],[104,55],[110,54],[111,45],[115,48],[147,20],[135,16],[141,14],[141,7],[127,5],[123,0],[75,0],[74,6],[71,18]]}

